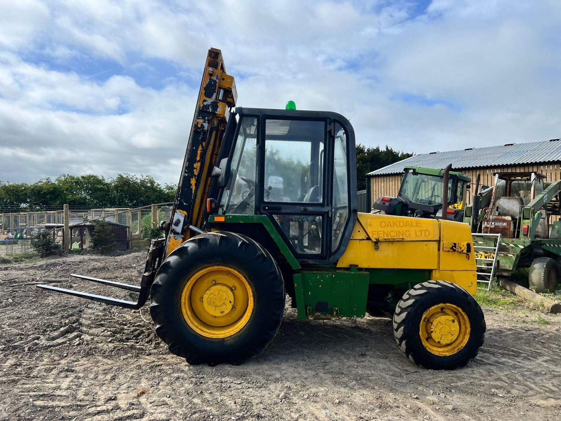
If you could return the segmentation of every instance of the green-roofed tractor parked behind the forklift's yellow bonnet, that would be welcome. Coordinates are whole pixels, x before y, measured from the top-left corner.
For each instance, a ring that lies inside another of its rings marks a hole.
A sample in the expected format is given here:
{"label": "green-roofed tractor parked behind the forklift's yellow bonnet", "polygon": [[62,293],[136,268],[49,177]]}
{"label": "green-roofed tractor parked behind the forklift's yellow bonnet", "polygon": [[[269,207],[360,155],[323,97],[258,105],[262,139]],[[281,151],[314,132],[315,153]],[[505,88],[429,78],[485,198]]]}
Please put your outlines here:
{"label": "green-roofed tractor parked behind the forklift's yellow bonnet", "polygon": [[[397,197],[381,196],[372,205],[371,213],[442,218],[444,170],[405,167]],[[450,171],[448,179],[448,219],[463,221],[463,206],[471,179],[461,172]]]}

